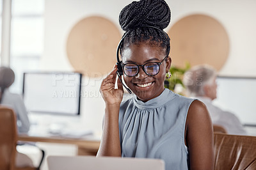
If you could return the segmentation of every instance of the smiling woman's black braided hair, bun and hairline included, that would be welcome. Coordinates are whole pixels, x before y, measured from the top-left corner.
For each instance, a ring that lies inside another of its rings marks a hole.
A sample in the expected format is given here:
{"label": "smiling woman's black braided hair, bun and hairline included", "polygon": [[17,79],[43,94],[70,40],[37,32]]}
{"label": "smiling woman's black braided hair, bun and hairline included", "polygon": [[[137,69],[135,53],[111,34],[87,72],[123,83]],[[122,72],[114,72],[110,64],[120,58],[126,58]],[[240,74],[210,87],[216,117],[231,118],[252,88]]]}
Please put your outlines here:
{"label": "smiling woman's black braided hair, bun and hairline included", "polygon": [[150,46],[162,47],[168,56],[170,38],[166,38],[161,30],[168,26],[170,18],[170,8],[164,0],[133,1],[125,6],[120,12],[119,24],[126,31],[124,35],[128,35],[125,35],[124,41],[120,44],[121,55],[125,47],[147,42]]}

